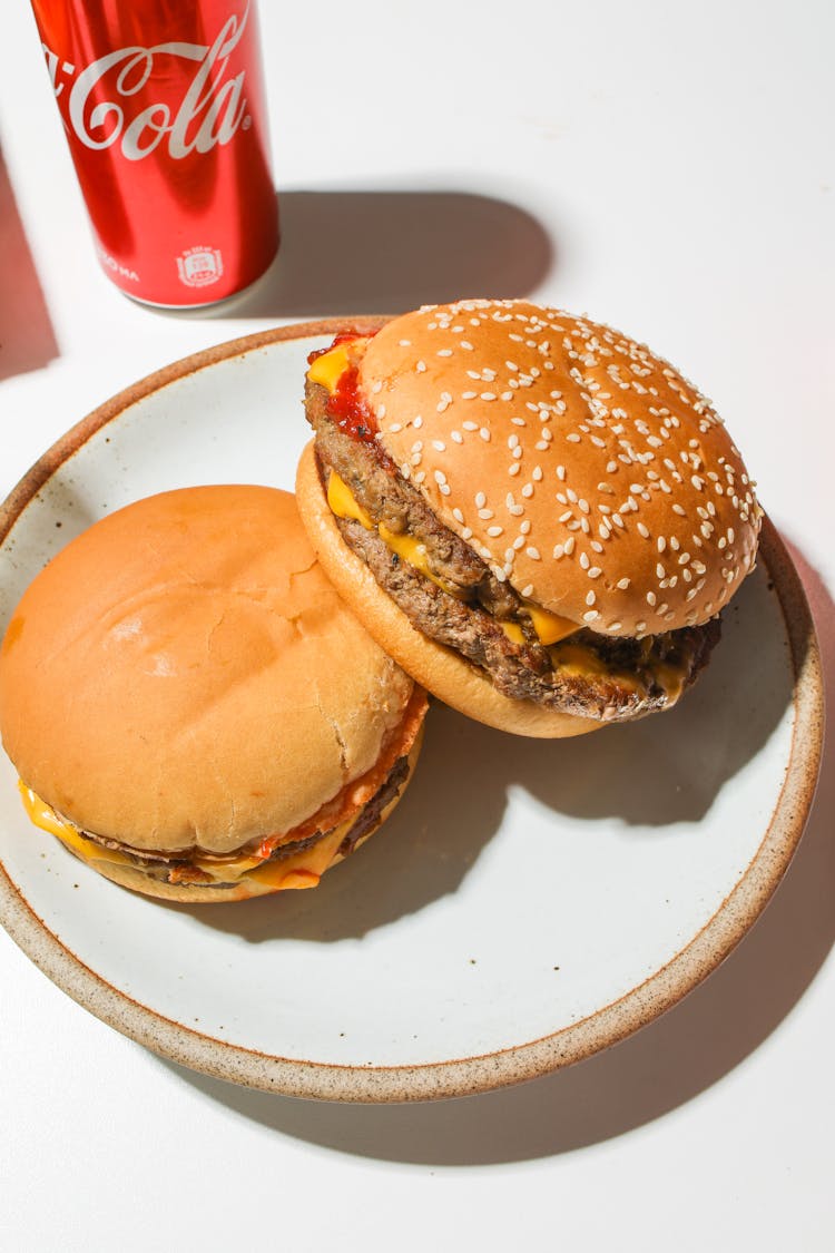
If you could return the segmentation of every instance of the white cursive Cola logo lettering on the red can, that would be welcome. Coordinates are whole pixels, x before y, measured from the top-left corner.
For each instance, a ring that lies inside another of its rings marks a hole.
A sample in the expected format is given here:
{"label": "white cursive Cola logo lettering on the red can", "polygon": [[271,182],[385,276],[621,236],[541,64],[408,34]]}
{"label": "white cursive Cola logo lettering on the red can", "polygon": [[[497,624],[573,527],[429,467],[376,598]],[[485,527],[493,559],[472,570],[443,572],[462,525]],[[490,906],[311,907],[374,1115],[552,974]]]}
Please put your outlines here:
{"label": "white cursive Cola logo lettering on the red can", "polygon": [[[141,160],[161,143],[169,157],[205,153],[228,144],[239,128],[249,125],[242,70],[227,78],[232,53],[240,43],[249,5],[240,19],[232,16],[209,48],[202,44],[165,43],[154,48],[121,48],[78,71],[44,45],[56,98],[64,91],[61,73],[73,80],[65,101],[65,124],[86,148],[118,144],[128,160]],[[148,101],[145,90],[159,58],[193,61],[195,70],[179,101]],[[131,115],[130,105],[140,104]]]}

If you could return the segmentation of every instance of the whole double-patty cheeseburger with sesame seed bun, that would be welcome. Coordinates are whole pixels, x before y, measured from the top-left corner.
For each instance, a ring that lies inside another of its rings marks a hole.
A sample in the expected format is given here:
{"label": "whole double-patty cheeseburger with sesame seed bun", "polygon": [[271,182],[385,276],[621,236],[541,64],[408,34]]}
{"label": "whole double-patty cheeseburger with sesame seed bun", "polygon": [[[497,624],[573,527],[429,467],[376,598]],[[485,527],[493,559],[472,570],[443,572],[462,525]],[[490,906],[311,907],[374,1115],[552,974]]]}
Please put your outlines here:
{"label": "whole double-patty cheeseburger with sesame seed bun", "polygon": [[376,639],[441,699],[561,737],[669,709],[761,510],[667,362],[526,301],[431,306],[314,353],[297,500]]}

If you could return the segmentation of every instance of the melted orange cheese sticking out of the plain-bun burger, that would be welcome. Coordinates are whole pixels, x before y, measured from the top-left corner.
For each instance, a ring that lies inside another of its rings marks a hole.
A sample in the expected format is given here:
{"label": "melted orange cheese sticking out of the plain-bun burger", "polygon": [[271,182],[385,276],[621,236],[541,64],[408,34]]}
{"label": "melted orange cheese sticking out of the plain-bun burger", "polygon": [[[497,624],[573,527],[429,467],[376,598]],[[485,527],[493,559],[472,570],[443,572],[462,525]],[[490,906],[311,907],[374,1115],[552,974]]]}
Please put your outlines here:
{"label": "melted orange cheese sticking out of the plain-bun burger", "polygon": [[[110,862],[111,865],[129,866],[133,870],[141,870],[136,862],[126,853],[115,848],[104,848],[94,840],[88,840],[80,831],[76,831],[69,822],[60,818],[45,801],[26,787],[18,784],[23,797],[24,808],[29,818],[41,831],[48,831],[73,850],[83,861],[95,868],[95,862]],[[263,861],[259,857],[237,857],[229,861],[210,861],[208,858],[194,857],[192,865],[198,870],[210,875],[217,883],[235,883],[247,876],[264,887],[270,888],[303,888],[315,887],[319,878],[325,872],[337,855],[339,845],[351,831],[356,814],[339,823],[332,832],[324,836],[312,848],[282,857],[277,861]]]}

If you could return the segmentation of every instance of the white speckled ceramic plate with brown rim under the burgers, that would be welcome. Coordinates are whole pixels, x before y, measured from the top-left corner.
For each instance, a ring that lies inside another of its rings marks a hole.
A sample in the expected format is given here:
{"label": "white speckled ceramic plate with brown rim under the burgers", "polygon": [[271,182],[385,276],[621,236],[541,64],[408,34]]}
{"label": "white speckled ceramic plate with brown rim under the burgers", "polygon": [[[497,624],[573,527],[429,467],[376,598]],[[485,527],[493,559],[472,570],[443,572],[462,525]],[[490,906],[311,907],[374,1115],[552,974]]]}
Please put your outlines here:
{"label": "white speckled ceramic plate with brown rim under the burgers", "polygon": [[[60,440],[0,515],[0,630],[73,535],[154,491],[292,487],[305,357],[284,327],[154,375]],[[313,892],[160,905],[24,817],[0,762],[0,917],[70,996],[224,1079],[387,1101],[527,1079],[622,1039],[740,940],[785,871],[821,741],[817,649],[774,529],[671,713],[576,741],[431,710],[394,817]]]}

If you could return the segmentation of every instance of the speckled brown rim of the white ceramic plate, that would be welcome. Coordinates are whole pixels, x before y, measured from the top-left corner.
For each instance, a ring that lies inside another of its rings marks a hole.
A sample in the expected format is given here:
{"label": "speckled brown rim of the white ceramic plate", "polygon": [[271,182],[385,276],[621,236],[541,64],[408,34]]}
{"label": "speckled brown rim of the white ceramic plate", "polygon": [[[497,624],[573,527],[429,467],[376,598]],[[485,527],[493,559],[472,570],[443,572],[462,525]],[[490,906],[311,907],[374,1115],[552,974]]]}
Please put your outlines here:
{"label": "speckled brown rim of the white ceramic plate", "polygon": [[[386,317],[341,317],[277,327],[184,357],[94,410],[61,436],[0,506],[0,540],[51,476],[98,431],[151,392],[269,345],[334,335],[347,325],[373,330]],[[658,1017],[702,981],[739,944],[785,873],[811,808],[824,730],[821,660],[802,584],[776,529],[764,519],[760,560],[782,610],[795,673],[789,763],[760,847],[736,887],[702,930],[655,975],[625,996],[552,1035],[496,1053],[404,1066],[298,1061],[228,1044],[182,1026],[113,987],[84,965],[18,891],[0,862],[0,923],[30,960],[101,1021],[180,1065],[218,1079],[290,1096],[361,1103],[432,1100],[487,1091],[580,1061]]]}

